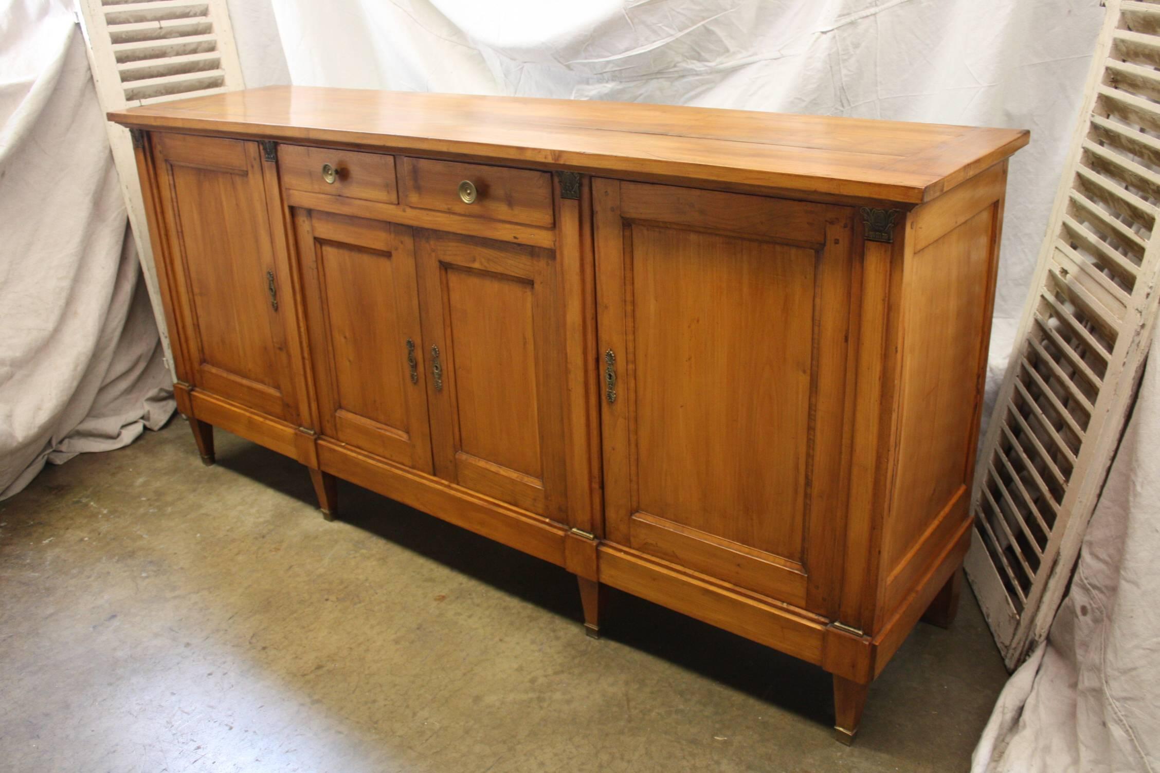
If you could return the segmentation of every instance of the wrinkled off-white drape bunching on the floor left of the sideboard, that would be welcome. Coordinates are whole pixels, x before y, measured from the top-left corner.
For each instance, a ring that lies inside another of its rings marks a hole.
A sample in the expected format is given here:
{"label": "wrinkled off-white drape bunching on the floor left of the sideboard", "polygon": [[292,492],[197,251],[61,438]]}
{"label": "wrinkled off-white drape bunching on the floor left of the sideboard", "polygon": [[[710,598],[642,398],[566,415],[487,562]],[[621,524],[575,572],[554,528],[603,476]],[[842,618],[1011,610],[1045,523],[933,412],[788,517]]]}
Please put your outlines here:
{"label": "wrinkled off-white drape bunching on the floor left of the sideboard", "polygon": [[0,499],[173,414],[124,199],[65,0],[0,13]]}

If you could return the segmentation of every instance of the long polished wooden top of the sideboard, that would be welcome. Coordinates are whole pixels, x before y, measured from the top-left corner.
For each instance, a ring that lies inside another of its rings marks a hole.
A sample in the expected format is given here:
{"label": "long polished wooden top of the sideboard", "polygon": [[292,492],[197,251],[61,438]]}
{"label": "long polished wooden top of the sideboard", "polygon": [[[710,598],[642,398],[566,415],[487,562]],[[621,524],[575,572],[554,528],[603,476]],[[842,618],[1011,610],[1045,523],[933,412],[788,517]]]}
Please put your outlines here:
{"label": "long polished wooden top of the sideboard", "polygon": [[109,119],[899,203],[935,198],[1029,139],[1016,129],[305,86],[164,102],[110,112]]}

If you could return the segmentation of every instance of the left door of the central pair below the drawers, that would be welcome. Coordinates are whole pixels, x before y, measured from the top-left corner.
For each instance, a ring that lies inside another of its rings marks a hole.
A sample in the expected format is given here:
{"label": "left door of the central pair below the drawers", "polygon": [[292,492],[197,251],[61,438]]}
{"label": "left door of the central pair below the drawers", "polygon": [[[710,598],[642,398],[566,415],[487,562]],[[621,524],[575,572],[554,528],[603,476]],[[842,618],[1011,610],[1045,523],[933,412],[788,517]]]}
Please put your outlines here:
{"label": "left door of the central pair below the drawers", "polygon": [[293,212],[322,435],[432,472],[411,228]]}

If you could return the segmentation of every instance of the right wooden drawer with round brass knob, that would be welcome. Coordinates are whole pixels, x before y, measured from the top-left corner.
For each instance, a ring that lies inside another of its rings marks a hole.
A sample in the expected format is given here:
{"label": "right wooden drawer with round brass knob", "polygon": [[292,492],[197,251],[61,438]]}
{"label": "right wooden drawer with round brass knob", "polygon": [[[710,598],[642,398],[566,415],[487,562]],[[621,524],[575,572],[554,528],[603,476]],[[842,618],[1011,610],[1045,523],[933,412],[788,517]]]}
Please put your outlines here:
{"label": "right wooden drawer with round brass knob", "polygon": [[[463,182],[474,187],[470,203],[459,195]],[[408,206],[530,226],[551,227],[554,221],[552,176],[546,172],[405,158],[399,184]]]}

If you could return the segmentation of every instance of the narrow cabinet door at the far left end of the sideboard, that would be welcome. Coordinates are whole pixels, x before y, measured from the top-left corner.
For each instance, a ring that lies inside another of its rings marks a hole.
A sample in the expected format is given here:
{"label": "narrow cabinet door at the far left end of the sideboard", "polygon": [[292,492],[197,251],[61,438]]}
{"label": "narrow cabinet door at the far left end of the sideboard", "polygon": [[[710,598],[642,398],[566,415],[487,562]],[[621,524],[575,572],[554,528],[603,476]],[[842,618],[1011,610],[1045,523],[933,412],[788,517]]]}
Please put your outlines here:
{"label": "narrow cabinet door at the far left end of the sideboard", "polygon": [[293,301],[284,256],[274,254],[281,242],[271,238],[258,143],[158,133],[153,148],[180,335],[191,360],[184,377],[297,421],[283,328]]}

